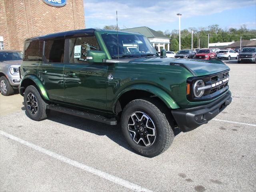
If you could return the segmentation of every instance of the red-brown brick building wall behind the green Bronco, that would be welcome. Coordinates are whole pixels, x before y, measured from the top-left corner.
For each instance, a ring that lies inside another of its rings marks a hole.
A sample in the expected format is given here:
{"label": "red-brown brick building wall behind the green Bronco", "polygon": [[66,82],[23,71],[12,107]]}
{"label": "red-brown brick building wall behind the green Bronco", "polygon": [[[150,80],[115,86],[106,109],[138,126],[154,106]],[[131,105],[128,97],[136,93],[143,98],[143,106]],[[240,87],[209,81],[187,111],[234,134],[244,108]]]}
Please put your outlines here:
{"label": "red-brown brick building wall behind the green Bronco", "polygon": [[61,7],[46,1],[0,0],[0,49],[22,51],[27,38],[85,28],[83,0]]}

